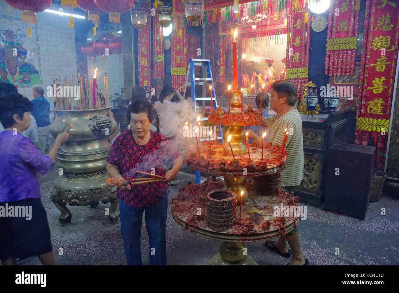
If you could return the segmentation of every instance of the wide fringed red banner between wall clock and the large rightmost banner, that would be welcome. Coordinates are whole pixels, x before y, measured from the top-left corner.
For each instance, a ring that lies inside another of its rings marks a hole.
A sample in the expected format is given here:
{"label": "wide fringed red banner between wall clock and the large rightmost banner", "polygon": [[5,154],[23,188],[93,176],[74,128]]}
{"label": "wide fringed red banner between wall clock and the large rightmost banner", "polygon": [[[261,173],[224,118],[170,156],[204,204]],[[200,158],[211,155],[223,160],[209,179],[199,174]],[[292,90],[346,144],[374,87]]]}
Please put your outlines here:
{"label": "wide fringed red banner between wall clock and the large rightmost banner", "polygon": [[359,10],[356,10],[356,0],[337,0],[332,3],[328,14],[324,74],[353,76],[359,33]]}

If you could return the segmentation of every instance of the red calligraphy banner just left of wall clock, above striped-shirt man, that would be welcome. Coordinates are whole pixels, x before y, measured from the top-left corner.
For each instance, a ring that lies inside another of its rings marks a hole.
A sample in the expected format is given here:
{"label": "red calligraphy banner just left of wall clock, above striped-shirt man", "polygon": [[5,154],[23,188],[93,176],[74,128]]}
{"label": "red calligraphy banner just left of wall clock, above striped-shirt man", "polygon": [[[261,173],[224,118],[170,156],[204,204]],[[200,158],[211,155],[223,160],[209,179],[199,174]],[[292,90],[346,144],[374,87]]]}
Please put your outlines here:
{"label": "red calligraphy banner just left of wall clock, above striped-shirt man", "polygon": [[[288,4],[290,5],[290,4]],[[310,36],[310,12],[307,4],[304,7],[290,10],[288,16],[289,42],[287,39],[287,79],[296,85],[297,97],[304,91],[304,84],[308,82],[309,66],[309,39]]]}

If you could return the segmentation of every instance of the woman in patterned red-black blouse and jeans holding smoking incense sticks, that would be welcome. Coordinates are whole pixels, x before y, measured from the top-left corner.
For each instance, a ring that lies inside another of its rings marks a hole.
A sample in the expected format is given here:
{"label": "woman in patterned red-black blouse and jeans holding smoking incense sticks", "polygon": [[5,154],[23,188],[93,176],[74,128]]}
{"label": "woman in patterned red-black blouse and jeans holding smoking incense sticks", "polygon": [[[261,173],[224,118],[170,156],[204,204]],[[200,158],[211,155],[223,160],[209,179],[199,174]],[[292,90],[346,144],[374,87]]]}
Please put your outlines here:
{"label": "woman in patterned red-black blouse and jeans holding smoking incense sticks", "polygon": [[[150,130],[152,105],[148,100],[134,100],[126,116],[131,128],[115,138],[107,158],[107,172],[120,183],[120,232],[127,263],[142,265],[140,235],[145,212],[150,264],[166,265],[168,183],[182,167],[183,157],[165,136]],[[170,170],[166,170],[169,166]],[[151,182],[143,183],[143,177]]]}

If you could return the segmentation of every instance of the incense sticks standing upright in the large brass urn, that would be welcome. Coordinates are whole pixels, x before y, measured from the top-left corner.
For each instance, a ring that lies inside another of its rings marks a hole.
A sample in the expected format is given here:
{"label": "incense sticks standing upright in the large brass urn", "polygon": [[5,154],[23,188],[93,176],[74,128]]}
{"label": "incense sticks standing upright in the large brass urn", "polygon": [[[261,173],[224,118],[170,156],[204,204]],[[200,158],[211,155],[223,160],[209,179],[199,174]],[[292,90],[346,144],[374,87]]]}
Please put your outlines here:
{"label": "incense sticks standing upright in the large brass urn", "polygon": [[[61,79],[53,79],[53,96],[56,110],[85,110],[109,106],[109,77],[107,77],[107,73],[105,73],[104,77],[104,99],[100,98],[101,86],[99,87],[97,83],[94,83],[96,88],[93,90],[93,79],[83,80],[80,73],[77,75],[76,83],[75,79],[76,75],[74,74],[69,80],[65,74],[63,84]],[[94,93],[96,95],[95,100],[93,100]]]}

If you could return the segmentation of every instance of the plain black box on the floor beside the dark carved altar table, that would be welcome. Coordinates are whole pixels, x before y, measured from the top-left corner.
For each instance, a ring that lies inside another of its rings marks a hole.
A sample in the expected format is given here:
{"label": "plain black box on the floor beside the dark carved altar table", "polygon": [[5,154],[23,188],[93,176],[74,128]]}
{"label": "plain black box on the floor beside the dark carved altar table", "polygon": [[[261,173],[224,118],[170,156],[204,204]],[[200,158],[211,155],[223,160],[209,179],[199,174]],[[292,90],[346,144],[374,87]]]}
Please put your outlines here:
{"label": "plain black box on the floor beside the dark carved altar table", "polygon": [[375,147],[337,143],[330,148],[324,208],[364,219],[374,156]]}

